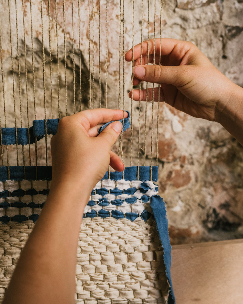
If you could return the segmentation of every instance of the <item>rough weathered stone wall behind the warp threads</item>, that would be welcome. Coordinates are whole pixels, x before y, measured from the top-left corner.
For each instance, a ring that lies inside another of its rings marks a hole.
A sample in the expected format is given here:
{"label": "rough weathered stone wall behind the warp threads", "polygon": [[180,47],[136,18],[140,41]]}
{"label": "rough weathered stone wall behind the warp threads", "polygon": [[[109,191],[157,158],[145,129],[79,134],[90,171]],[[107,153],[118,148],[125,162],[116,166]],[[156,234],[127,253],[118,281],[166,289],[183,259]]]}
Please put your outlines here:
{"label": "rough weathered stone wall behind the warp threads", "polygon": [[[26,74],[29,102],[29,120],[34,119],[33,67],[30,26],[30,2],[24,1],[26,68],[23,35],[22,1],[17,1],[18,44],[20,84],[18,76],[18,50],[16,38],[15,2],[10,0],[10,20],[12,31],[12,57],[15,85],[16,123],[20,126],[19,96],[22,101],[22,126],[27,126]],[[134,0],[134,44],[141,42],[141,25],[143,40],[147,39],[148,2],[143,0],[143,16],[141,18],[141,1]],[[90,29],[88,1],[80,0],[80,58],[78,30],[78,1],[65,1],[66,12],[66,58],[67,58],[67,113],[72,114],[74,100],[76,111],[80,110],[80,69],[82,72],[82,109],[89,107],[89,71],[91,71],[91,104],[93,106],[93,87],[95,107],[105,106],[105,1],[101,1],[99,51],[99,1],[90,1]],[[50,0],[50,41],[52,53],[52,85],[50,83],[50,45],[48,1],[43,0],[43,29],[41,27],[40,0],[32,0],[33,10],[33,50],[36,89],[36,118],[44,118],[44,90],[42,69],[42,32],[45,53],[45,82],[47,118],[51,118],[51,99],[53,102],[53,118],[58,116],[58,99],[65,115],[65,60],[64,60],[64,23],[63,2],[57,1],[57,30],[55,2]],[[5,105],[7,126],[15,126],[12,61],[10,48],[8,1],[0,0],[2,54],[5,81]],[[118,107],[119,95],[119,32],[120,1],[108,1],[107,16],[107,105]],[[153,38],[154,2],[150,2],[149,35]],[[238,85],[243,85],[243,2],[241,0],[172,0],[163,3],[162,37],[190,40],[211,60],[211,62],[227,77]],[[72,22],[72,19],[74,22]],[[156,0],[156,37],[159,37],[160,1]],[[93,39],[94,21],[94,39]],[[132,1],[125,0],[125,14],[122,16],[125,29],[124,48],[132,47]],[[73,35],[74,24],[74,35]],[[122,23],[123,24],[123,23]],[[123,27],[121,26],[121,31]],[[91,50],[89,52],[89,31],[91,33]],[[57,47],[58,38],[58,57]],[[94,51],[93,51],[94,41]],[[73,44],[74,42],[74,44]],[[73,73],[73,45],[75,70]],[[122,41],[121,41],[121,74],[122,74]],[[91,56],[91,61],[89,60]],[[94,56],[94,70],[93,70]],[[101,60],[99,60],[101,58]],[[81,65],[80,65],[81,61]],[[101,90],[99,90],[99,61],[101,74]],[[90,64],[91,62],[91,64]],[[58,93],[58,74],[60,92]],[[94,74],[93,74],[94,71]],[[75,86],[73,86],[73,74]],[[94,75],[94,86],[93,86]],[[131,109],[131,101],[127,92],[131,88],[131,64],[125,63],[124,72],[124,104]],[[2,79],[1,79],[2,80]],[[121,75],[121,108],[123,105],[123,77]],[[145,87],[145,84],[143,84]],[[74,92],[75,89],[75,92]],[[52,90],[52,98],[51,98]],[[0,85],[1,120],[4,126],[3,90]],[[59,96],[59,97],[58,97]],[[137,164],[138,151],[138,102],[133,102],[133,152],[132,164]],[[157,104],[155,104],[155,108]],[[151,104],[148,105],[146,164],[150,164],[151,150]],[[155,117],[157,116],[155,110]],[[140,143],[144,141],[145,104],[141,103]],[[156,158],[156,118],[152,142],[152,158]],[[125,164],[130,165],[130,131],[123,136],[123,153]],[[116,145],[115,150],[117,150]],[[26,162],[28,147],[26,149]],[[35,147],[31,147],[32,164],[35,161]],[[37,147],[38,165],[46,164],[45,143]],[[10,165],[16,164],[15,147],[9,147]],[[140,147],[143,159],[144,147]],[[21,151],[19,151],[21,154]],[[47,147],[50,164],[50,145]],[[4,150],[4,160],[6,151]],[[19,156],[19,163],[22,164]],[[140,161],[143,164],[143,161]],[[242,237],[243,235],[243,148],[219,124],[196,119],[160,104],[159,108],[159,192],[167,203],[169,232],[173,244],[198,242],[202,240],[221,240]]]}

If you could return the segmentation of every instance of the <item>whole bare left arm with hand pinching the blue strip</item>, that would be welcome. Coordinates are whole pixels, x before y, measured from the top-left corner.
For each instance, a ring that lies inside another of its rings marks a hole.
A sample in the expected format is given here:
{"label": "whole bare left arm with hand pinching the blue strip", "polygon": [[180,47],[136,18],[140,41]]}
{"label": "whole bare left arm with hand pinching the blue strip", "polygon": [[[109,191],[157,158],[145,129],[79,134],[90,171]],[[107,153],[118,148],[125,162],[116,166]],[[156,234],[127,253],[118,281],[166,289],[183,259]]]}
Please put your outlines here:
{"label": "whole bare left arm with hand pinching the blue strip", "polygon": [[52,185],[45,206],[20,256],[4,304],[74,303],[80,224],[91,190],[109,163],[124,165],[111,152],[122,125],[101,123],[123,117],[121,110],[87,110],[61,120],[51,141]]}

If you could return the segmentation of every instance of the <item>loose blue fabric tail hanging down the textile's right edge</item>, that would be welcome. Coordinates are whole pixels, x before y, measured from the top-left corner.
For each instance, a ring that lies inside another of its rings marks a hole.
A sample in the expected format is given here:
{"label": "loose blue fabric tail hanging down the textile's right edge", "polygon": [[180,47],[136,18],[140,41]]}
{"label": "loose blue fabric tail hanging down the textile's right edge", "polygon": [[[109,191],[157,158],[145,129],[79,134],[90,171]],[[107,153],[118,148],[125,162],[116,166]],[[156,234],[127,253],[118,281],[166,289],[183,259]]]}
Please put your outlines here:
{"label": "loose blue fabric tail hanging down the textile's right edge", "polygon": [[168,304],[175,304],[175,296],[172,287],[170,266],[171,266],[171,245],[168,233],[168,221],[166,219],[165,202],[159,195],[151,198],[151,208],[156,221],[156,227],[159,232],[159,238],[164,249],[164,262],[166,268],[166,276],[169,281],[169,299]]}

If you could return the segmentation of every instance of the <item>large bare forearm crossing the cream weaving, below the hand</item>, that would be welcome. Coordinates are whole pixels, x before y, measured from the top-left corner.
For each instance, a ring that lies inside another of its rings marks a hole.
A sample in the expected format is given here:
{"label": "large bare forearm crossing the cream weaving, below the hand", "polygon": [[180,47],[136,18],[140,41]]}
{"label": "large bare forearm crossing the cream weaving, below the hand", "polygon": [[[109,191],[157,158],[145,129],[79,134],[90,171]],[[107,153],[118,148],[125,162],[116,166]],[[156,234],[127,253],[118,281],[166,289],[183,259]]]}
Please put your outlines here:
{"label": "large bare forearm crossing the cream weaving, below the hand", "polygon": [[[16,266],[4,304],[73,303],[77,242],[90,187],[51,188]],[[82,193],[82,195],[78,195]]]}

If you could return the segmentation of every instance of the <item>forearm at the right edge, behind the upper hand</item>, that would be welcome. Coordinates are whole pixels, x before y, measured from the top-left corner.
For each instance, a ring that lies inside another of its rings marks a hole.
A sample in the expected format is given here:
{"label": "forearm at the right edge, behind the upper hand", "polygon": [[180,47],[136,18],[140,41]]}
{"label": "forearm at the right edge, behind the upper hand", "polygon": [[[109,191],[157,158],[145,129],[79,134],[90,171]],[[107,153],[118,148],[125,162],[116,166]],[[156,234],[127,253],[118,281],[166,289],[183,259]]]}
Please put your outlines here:
{"label": "forearm at the right edge, behind the upper hand", "polygon": [[215,121],[220,123],[243,146],[243,88],[233,84],[218,102]]}

